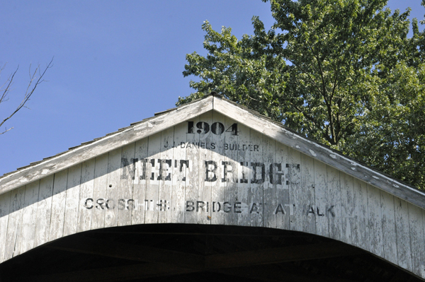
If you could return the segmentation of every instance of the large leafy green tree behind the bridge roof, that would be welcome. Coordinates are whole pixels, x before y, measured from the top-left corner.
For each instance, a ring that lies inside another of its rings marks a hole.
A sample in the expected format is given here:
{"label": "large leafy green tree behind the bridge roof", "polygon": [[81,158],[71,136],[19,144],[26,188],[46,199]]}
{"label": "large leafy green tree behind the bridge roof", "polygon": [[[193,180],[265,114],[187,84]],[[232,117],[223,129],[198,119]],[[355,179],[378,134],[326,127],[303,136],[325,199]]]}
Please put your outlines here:
{"label": "large leafy green tree behind the bridge roof", "polygon": [[[266,0],[263,0],[266,1]],[[237,40],[208,22],[208,55],[186,55],[196,90],[215,90],[307,137],[425,187],[424,34],[387,0],[271,0],[276,23]],[[395,130],[399,134],[394,134]],[[391,135],[392,134],[392,135]],[[402,144],[402,145],[401,145]],[[379,148],[378,148],[379,147]],[[417,173],[421,173],[419,177]]]}

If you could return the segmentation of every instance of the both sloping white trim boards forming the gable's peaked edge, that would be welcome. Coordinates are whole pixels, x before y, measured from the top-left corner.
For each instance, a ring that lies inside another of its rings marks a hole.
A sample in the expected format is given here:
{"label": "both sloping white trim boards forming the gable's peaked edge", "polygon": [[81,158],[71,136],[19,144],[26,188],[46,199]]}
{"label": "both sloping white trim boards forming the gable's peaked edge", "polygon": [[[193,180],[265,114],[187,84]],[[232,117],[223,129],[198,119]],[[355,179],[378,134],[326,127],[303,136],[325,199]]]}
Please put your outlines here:
{"label": "both sloping white trim boards forming the gable's peaked edge", "polygon": [[425,208],[425,194],[418,189],[358,163],[356,160],[347,158],[338,151],[334,151],[316,141],[306,139],[300,134],[286,129],[281,124],[272,122],[254,111],[247,110],[229,100],[223,99],[220,95],[208,95],[206,98],[191,102],[188,105],[161,112],[158,116],[120,129],[114,134],[108,134],[103,138],[95,139],[86,144],[83,143],[81,146],[57,156],[4,175],[4,177],[0,178],[0,194],[69,168],[77,163],[95,158],[115,148],[120,148],[127,143],[132,143],[169,127],[174,127],[180,122],[188,121],[210,110],[224,114],[271,139],[294,148],[296,151],[310,155],[312,158],[331,165],[348,175],[372,184],[416,206]]}

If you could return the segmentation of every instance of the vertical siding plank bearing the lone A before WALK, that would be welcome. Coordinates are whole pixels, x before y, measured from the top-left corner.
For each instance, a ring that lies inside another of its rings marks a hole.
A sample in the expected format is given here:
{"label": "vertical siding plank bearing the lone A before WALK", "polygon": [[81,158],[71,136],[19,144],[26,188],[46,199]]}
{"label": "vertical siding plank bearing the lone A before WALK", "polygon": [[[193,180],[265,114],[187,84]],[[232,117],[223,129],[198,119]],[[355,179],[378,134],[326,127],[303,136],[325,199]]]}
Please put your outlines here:
{"label": "vertical siding plank bearing the lone A before WALK", "polygon": [[289,230],[289,185],[286,183],[288,177],[288,168],[286,168],[286,164],[288,163],[288,147],[276,142],[275,158],[276,163],[282,165],[281,170],[284,172],[284,175],[281,176],[281,184],[276,184],[276,208],[273,214],[276,216],[276,228]]}

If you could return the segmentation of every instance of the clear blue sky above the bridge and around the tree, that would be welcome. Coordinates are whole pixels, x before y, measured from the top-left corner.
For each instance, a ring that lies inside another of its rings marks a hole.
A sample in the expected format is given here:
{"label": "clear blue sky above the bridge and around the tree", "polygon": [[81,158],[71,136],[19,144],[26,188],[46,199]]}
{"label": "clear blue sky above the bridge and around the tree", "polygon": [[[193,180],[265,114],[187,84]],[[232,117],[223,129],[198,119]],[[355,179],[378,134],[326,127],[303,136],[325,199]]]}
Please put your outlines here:
{"label": "clear blue sky above the bridge and around the tree", "polygon": [[[410,6],[411,18],[421,20],[420,2],[388,6]],[[29,66],[55,59],[30,110],[6,122],[13,129],[0,135],[0,175],[174,107],[191,93],[191,78],[181,74],[186,54],[205,54],[204,20],[240,38],[252,34],[252,16],[267,28],[273,23],[260,0],[4,1],[0,85],[19,71],[1,119],[23,98]]]}

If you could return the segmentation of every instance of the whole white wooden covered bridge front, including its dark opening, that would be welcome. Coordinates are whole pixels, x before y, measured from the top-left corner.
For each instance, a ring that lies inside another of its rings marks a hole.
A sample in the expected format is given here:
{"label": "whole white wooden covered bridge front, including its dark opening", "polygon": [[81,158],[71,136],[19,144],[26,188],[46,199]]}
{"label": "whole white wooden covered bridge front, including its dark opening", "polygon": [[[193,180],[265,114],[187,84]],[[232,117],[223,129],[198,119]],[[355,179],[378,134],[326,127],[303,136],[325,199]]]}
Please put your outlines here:
{"label": "whole white wooden covered bridge front, including its dark opening", "polygon": [[423,281],[425,194],[219,95],[0,178],[0,281]]}

